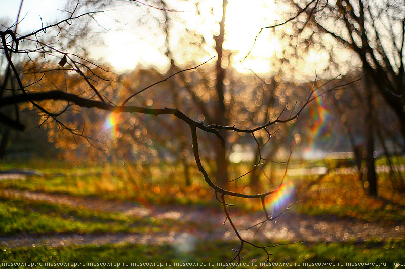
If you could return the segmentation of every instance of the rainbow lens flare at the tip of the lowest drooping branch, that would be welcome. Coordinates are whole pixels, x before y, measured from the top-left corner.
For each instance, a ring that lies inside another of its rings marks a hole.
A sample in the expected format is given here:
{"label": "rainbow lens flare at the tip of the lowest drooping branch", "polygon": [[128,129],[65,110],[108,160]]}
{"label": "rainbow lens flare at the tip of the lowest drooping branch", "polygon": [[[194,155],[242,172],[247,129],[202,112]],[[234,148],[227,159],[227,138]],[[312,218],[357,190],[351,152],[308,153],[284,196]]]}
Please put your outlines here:
{"label": "rainbow lens flare at the tip of the lowest drooping branch", "polygon": [[271,216],[277,216],[293,203],[295,199],[294,184],[291,181],[282,183],[271,196],[265,200],[266,207],[272,208]]}

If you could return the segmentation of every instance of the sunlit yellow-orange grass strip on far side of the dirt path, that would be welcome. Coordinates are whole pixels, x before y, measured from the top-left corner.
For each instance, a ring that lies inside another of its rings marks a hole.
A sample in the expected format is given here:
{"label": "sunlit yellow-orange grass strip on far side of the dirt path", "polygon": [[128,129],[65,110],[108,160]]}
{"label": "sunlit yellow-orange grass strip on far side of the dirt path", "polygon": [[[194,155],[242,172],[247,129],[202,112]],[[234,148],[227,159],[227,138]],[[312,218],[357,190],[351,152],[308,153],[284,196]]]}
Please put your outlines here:
{"label": "sunlit yellow-orange grass strip on far side of the dirt path", "polygon": [[[396,163],[403,160],[396,160]],[[378,163],[384,164],[381,159]],[[44,171],[46,176],[28,177],[26,180],[0,180],[0,188],[65,193],[74,196],[98,196],[104,199],[135,201],[140,204],[201,204],[220,206],[213,199],[213,191],[201,178],[196,169],[191,169],[193,183],[185,186],[182,168],[179,165],[138,167],[128,164],[124,167],[106,164],[104,167],[73,168],[65,162],[2,164],[2,169],[32,167]],[[230,167],[233,174],[246,172],[246,164]],[[63,174],[61,176],[60,174]],[[270,174],[268,171],[266,174]],[[296,186],[305,186],[316,180],[314,176],[287,178]],[[267,180],[268,181],[268,180]],[[248,178],[232,182],[232,188],[244,192]],[[268,187],[268,186],[267,186]],[[264,187],[263,189],[267,189]],[[356,175],[326,176],[313,185],[305,194],[305,202],[292,207],[299,213],[309,215],[337,215],[366,221],[384,221],[394,224],[405,220],[405,196],[392,188],[386,174],[379,174],[379,194],[397,205],[387,205],[367,195]],[[306,200],[306,198],[310,198]],[[229,199],[234,203],[232,199]],[[257,201],[234,199],[236,206],[260,210]]]}

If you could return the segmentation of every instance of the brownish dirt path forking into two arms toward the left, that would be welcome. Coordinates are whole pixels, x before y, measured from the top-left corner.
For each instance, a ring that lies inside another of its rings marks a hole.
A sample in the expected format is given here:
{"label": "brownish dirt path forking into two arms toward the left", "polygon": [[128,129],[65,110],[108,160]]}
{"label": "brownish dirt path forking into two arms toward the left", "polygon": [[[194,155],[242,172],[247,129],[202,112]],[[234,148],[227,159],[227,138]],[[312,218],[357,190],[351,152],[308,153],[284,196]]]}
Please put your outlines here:
{"label": "brownish dirt path forking into two arms toward the left", "polygon": [[[5,194],[13,197],[48,203],[84,207],[95,211],[122,212],[128,215],[154,217],[156,219],[172,219],[179,221],[184,229],[181,233],[102,233],[102,234],[54,234],[54,235],[20,235],[0,236],[0,245],[32,246],[46,244],[60,246],[69,244],[105,244],[105,243],[142,243],[161,244],[181,243],[195,240],[223,239],[235,240],[236,237],[224,214],[218,209],[203,206],[142,206],[133,202],[117,202],[91,197],[76,197],[63,194],[50,194],[23,190],[7,189]],[[287,240],[287,241],[365,241],[376,238],[388,240],[390,238],[405,239],[405,225],[385,226],[378,223],[366,223],[359,220],[338,217],[312,217],[287,212],[274,222],[268,222],[255,235],[255,230],[246,230],[263,219],[262,212],[248,215],[233,215],[233,220],[239,227],[240,234],[246,239],[255,240]]]}

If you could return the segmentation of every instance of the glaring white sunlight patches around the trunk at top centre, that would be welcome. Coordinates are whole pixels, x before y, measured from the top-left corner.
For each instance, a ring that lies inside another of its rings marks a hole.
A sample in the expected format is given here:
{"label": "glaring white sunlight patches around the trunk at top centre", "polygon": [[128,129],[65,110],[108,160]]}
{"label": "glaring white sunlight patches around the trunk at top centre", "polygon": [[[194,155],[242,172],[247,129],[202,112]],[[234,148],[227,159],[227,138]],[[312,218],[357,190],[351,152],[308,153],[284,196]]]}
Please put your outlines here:
{"label": "glaring white sunlight patches around the trunk at top centre", "polygon": [[[187,65],[191,61],[203,61],[208,56],[215,54],[213,34],[218,34],[218,21],[221,18],[221,8],[218,2],[212,0],[200,1],[201,18],[195,17],[193,6],[187,2],[173,1],[171,4],[177,10],[185,11],[176,13],[178,21],[171,22],[170,46],[172,46],[172,53],[176,57],[176,61],[180,65]],[[209,12],[211,7],[213,8],[212,13]],[[260,28],[272,25],[280,20],[281,17],[276,13],[276,7],[277,5],[273,1],[260,0],[249,3],[249,5],[241,0],[229,1],[223,46],[225,50],[231,51],[231,65],[238,72],[249,73],[251,71],[248,69],[254,69],[257,73],[269,73],[274,69],[273,59],[276,52],[281,50],[281,43],[270,30],[265,30],[259,35],[250,56],[243,63],[240,61],[252,48],[255,36]],[[145,13],[144,10],[134,9],[134,7],[130,6],[118,8],[119,10],[111,13],[111,17],[121,14],[124,18],[127,18],[128,14],[132,13],[135,17],[134,20],[139,20],[140,14]],[[121,15],[120,17],[122,17]],[[145,14],[144,16],[148,15]],[[103,24],[111,25],[111,23],[115,23],[108,21],[108,18],[105,17],[103,20],[101,20]],[[132,70],[137,66],[142,68],[153,66],[161,72],[167,71],[170,62],[164,54],[164,35],[160,30],[151,34],[151,27],[155,27],[153,26],[154,22],[144,20],[144,24],[136,25],[131,22],[128,25],[121,25],[120,30],[107,32],[104,39],[106,46],[95,50],[95,54],[99,57],[105,55],[103,59],[109,62],[117,72]],[[188,38],[184,36],[184,34],[187,34],[183,29],[184,26],[204,36],[207,44],[201,45],[200,51],[198,51],[198,48],[193,49],[190,46],[182,48]],[[206,55],[200,55],[204,51]]]}

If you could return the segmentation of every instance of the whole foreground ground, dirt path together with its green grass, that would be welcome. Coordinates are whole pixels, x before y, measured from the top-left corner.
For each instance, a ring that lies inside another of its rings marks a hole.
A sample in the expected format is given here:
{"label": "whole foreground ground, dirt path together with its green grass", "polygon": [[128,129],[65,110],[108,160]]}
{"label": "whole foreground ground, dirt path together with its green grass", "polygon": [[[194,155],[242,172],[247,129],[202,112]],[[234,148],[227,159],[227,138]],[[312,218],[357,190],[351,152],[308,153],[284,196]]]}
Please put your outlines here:
{"label": "whole foreground ground, dirt path together with its green grass", "polygon": [[[64,185],[67,191],[62,193],[60,184],[56,187],[54,182],[58,176],[36,175],[35,185],[31,184],[32,178],[0,180],[2,262],[227,262],[233,255],[231,249],[237,247],[237,238],[229,222],[223,224],[224,213],[216,204],[141,203],[139,199],[111,198],[101,193],[78,195],[80,190],[69,188],[68,183]],[[344,180],[334,178],[333,182],[343,182],[347,187]],[[315,201],[294,206],[258,231],[249,227],[263,220],[261,210],[236,206],[231,215],[246,239],[282,244],[271,248],[272,261],[401,262],[405,245],[403,208],[381,206],[379,201],[366,209],[361,204],[335,202],[340,204],[340,211],[336,211],[326,206],[331,203],[328,191],[335,192],[328,187],[331,182],[312,186],[316,191],[311,199]],[[76,179],[75,184],[85,181]],[[153,193],[155,187],[149,187]],[[319,196],[325,193],[329,200]],[[344,198],[338,196],[332,200]],[[323,206],[316,207],[314,203],[320,203],[320,199]],[[382,208],[386,214],[380,214]],[[251,263],[265,261],[264,253],[257,249],[248,248],[244,255]]]}

